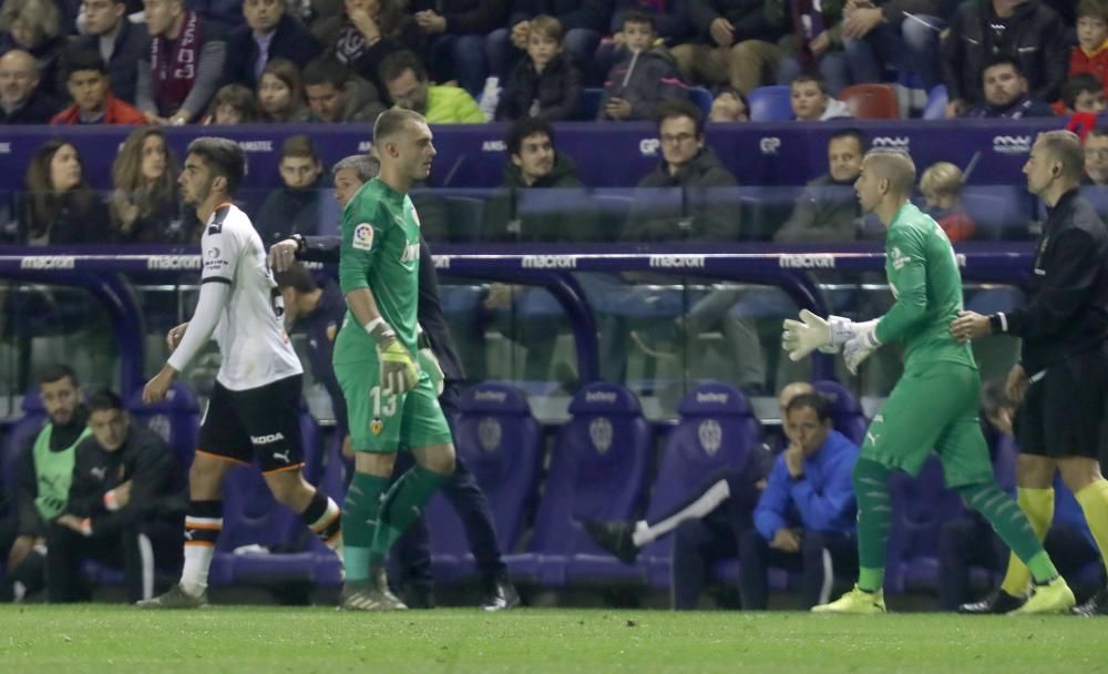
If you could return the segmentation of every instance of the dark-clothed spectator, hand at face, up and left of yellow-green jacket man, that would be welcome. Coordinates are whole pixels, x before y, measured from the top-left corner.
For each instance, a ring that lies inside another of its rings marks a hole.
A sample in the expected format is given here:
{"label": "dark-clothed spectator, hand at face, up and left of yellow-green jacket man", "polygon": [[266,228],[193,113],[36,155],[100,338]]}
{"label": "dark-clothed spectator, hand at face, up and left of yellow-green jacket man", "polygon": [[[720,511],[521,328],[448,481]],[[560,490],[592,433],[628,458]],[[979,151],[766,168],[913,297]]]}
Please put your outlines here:
{"label": "dark-clothed spectator, hand at face, up and left of yellow-green jacket man", "polygon": [[404,0],[346,0],[341,14],[320,21],[312,32],[330,45],[329,55],[383,92],[380,72],[390,54],[410,51],[423,68],[423,33],[404,7]]}

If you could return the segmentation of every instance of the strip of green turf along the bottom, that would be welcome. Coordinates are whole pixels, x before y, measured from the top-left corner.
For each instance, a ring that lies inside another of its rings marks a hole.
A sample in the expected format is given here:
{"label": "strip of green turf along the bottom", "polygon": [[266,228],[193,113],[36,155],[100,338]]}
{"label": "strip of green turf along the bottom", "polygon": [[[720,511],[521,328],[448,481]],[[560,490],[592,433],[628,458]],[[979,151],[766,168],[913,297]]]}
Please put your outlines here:
{"label": "strip of green turf along the bottom", "polygon": [[1096,672],[1108,622],[1070,616],[815,616],[216,606],[0,607],[0,672]]}

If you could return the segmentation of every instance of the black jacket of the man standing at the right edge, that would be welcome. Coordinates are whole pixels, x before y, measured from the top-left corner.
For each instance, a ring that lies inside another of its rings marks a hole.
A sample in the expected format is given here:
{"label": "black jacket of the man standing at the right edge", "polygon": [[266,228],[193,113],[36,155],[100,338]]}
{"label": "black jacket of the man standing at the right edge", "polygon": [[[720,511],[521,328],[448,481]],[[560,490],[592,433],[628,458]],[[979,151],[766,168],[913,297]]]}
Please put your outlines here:
{"label": "black jacket of the man standing at the right edge", "polygon": [[1028,375],[1108,340],[1108,228],[1077,188],[1043,227],[1026,304],[1004,314]]}

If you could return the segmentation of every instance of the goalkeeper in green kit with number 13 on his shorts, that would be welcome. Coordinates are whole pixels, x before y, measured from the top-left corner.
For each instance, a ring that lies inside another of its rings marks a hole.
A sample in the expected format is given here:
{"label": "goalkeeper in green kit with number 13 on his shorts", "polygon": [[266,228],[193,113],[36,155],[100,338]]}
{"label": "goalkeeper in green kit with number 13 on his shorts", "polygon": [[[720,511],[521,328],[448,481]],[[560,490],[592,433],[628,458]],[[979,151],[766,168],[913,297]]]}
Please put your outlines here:
{"label": "goalkeeper in green kit with number 13 on his shorts", "polygon": [[[419,216],[407,192],[431,172],[434,145],[423,115],[388,110],[373,125],[381,172],[342,212],[339,284],[347,312],[335,343],[335,372],[347,400],[355,474],[342,506],[347,548],[342,606],[406,607],[389,592],[384,560],[431,494],[454,471],[447,418],[427,372],[416,366]],[[383,497],[397,451],[416,466]]]}

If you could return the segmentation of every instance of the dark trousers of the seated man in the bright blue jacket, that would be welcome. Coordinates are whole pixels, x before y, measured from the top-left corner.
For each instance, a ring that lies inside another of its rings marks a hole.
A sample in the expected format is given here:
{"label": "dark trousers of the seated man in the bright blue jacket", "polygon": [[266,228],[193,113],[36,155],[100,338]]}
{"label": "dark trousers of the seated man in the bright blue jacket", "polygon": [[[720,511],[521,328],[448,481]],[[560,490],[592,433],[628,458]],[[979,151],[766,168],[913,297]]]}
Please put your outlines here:
{"label": "dark trousers of the seated man in the bright blue jacket", "polygon": [[804,531],[798,552],[769,547],[756,529],[739,538],[739,594],[747,611],[765,611],[769,605],[769,569],[800,572],[801,603],[804,609],[831,599],[835,576],[858,573],[858,537],[853,533]]}

